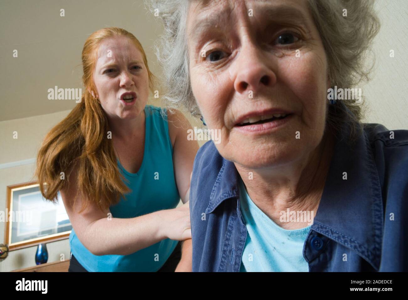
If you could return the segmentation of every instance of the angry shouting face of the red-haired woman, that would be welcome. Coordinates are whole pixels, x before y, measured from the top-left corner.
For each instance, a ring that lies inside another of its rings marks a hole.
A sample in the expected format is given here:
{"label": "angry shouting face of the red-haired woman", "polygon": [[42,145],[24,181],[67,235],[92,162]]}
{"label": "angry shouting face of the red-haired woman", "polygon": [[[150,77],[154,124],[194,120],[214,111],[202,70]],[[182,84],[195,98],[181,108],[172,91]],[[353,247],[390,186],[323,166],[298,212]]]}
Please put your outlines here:
{"label": "angry shouting face of the red-haired woman", "polygon": [[[149,98],[149,76],[142,53],[126,37],[108,38],[100,44],[93,82],[96,97],[111,118],[136,118]],[[133,99],[124,99],[126,92]]]}

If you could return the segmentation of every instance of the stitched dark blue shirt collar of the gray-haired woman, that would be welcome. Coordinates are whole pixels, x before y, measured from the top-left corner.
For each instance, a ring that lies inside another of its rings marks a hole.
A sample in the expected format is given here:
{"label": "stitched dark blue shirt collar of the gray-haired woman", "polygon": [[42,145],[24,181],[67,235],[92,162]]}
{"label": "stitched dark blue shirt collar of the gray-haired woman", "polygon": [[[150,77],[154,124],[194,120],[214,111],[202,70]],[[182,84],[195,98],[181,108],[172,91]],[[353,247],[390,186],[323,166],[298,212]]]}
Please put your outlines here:
{"label": "stitched dark blue shirt collar of the gray-haired woman", "polygon": [[[354,144],[348,143],[349,133],[350,126],[346,125],[336,140],[311,229],[352,249],[378,270],[384,222],[379,175],[366,133],[363,131]],[[217,151],[213,142],[211,147]],[[235,164],[224,158],[222,161],[206,213],[213,212],[224,200],[239,196]]]}

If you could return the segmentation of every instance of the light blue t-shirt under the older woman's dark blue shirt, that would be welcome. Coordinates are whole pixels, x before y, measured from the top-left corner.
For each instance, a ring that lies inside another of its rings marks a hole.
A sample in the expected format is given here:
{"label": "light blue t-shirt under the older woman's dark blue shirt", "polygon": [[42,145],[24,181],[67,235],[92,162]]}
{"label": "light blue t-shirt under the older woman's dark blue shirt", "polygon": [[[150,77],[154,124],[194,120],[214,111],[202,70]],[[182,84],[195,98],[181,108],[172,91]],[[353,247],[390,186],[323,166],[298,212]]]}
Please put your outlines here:
{"label": "light blue t-shirt under the older woman's dark blue shirt", "polygon": [[239,205],[246,223],[240,272],[308,272],[303,245],[311,226],[287,230],[277,225],[251,200],[239,178]]}

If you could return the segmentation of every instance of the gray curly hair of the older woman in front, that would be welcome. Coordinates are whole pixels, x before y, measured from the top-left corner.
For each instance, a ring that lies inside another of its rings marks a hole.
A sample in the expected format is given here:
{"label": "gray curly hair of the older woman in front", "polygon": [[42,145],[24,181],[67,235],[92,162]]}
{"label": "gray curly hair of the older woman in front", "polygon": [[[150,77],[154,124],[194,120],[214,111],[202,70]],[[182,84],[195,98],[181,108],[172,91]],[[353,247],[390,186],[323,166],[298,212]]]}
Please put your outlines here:
{"label": "gray curly hair of the older woman in front", "polygon": [[[191,90],[186,40],[187,12],[192,1],[200,0],[145,0],[145,4],[158,13],[164,25],[164,33],[155,44],[155,54],[164,69],[166,95],[162,99],[170,109],[186,109],[193,117],[200,117]],[[375,61],[366,66],[366,54],[380,28],[373,0],[307,1],[326,51],[331,86],[352,88],[370,80]],[[343,9],[353,13],[344,18],[339,13]],[[357,129],[362,130],[358,124],[364,116],[363,104],[341,101],[329,105],[328,126],[337,133],[348,124],[350,138],[355,138]]]}

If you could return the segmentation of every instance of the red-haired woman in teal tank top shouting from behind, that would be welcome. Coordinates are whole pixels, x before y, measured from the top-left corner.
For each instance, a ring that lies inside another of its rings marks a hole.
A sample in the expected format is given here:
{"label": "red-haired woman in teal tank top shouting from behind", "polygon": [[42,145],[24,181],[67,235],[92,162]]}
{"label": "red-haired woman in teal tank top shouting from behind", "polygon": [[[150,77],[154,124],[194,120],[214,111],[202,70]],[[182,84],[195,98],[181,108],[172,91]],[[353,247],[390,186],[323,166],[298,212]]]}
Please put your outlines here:
{"label": "red-haired woman in teal tank top shouting from behind", "polygon": [[[191,125],[147,105],[154,77],[128,31],[91,34],[82,64],[82,101],[44,139],[36,171],[44,198],[60,191],[71,220],[70,271],[174,271],[178,241],[191,238]],[[178,268],[191,269],[191,254]]]}

